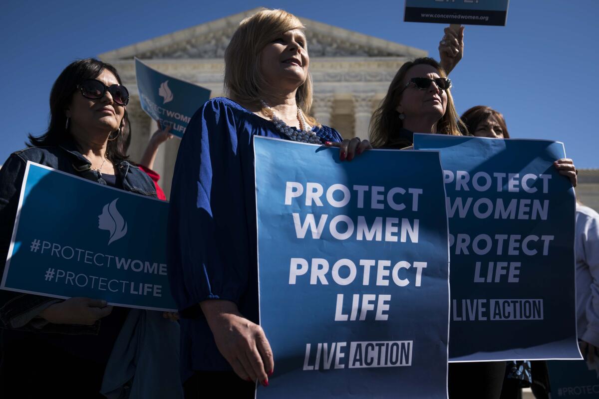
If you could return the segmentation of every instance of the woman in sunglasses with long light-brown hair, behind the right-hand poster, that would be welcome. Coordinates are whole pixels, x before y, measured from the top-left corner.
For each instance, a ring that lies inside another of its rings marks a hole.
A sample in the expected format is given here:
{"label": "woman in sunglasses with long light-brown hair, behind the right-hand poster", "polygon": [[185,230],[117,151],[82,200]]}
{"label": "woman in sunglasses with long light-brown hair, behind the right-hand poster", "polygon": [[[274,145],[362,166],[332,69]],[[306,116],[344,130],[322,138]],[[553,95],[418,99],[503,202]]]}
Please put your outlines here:
{"label": "woman in sunglasses with long light-brown hair, behind the right-hand poster", "polygon": [[[374,111],[370,125],[373,147],[409,148],[414,132],[457,136],[467,132],[455,111],[450,88],[451,81],[434,59],[423,57],[404,63],[382,105]],[[571,160],[557,160],[555,167],[576,185]],[[506,364],[501,361],[452,363],[449,397],[498,399],[505,373]]]}

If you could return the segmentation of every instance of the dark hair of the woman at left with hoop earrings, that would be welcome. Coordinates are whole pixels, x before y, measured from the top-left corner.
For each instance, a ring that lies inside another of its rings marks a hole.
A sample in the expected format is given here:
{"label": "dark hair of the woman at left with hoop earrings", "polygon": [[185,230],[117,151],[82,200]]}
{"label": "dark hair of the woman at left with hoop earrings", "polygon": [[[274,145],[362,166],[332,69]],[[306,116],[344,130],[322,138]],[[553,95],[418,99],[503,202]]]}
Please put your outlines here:
{"label": "dark hair of the woman at left with hoop earrings", "polygon": [[[72,96],[77,91],[77,86],[86,79],[97,78],[102,71],[110,71],[119,84],[119,72],[114,66],[93,59],[87,58],[70,63],[60,72],[60,75],[52,86],[50,91],[50,124],[48,130],[41,136],[29,135],[28,147],[45,147],[60,145],[68,139],[72,139],[71,133],[66,129],[65,109],[71,103]],[[108,141],[106,148],[106,157],[111,161],[128,159],[125,135],[119,134],[116,139]]]}

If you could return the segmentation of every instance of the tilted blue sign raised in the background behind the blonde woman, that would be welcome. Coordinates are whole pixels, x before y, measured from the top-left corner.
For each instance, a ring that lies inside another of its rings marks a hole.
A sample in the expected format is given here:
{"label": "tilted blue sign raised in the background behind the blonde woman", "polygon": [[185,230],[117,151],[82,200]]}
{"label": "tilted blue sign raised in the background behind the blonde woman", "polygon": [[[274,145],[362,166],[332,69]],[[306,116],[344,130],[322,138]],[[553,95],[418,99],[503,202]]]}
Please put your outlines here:
{"label": "tilted blue sign raised in the background behind the blonde woman", "polygon": [[158,72],[137,58],[135,76],[141,109],[162,126],[171,126],[171,133],[179,137],[195,111],[210,99],[210,90]]}

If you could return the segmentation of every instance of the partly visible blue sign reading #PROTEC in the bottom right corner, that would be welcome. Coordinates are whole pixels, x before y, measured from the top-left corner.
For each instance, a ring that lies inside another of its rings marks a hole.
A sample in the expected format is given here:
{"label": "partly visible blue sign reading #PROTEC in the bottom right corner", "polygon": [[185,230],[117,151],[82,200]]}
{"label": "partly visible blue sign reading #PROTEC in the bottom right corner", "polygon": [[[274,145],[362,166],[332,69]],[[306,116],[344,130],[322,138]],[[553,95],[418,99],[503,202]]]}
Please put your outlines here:
{"label": "partly visible blue sign reading #PROTEC in the bottom right corner", "polygon": [[552,398],[591,399],[599,397],[599,373],[585,360],[553,360],[547,362]]}

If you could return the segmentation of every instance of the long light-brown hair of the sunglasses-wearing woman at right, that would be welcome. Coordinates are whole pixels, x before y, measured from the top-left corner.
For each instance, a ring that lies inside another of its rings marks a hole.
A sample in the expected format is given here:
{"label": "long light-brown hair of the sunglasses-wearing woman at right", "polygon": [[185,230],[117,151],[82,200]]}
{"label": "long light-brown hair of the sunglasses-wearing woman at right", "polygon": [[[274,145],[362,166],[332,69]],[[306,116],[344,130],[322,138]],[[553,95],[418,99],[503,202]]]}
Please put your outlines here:
{"label": "long light-brown hair of the sunglasses-wearing woman at right", "polygon": [[[403,122],[400,120],[397,109],[395,108],[400,101],[404,87],[406,87],[404,78],[406,77],[407,72],[412,66],[422,64],[430,65],[437,69],[440,77],[447,77],[447,74],[443,68],[441,68],[441,65],[429,57],[417,58],[413,61],[404,63],[391,81],[389,90],[387,91],[387,95],[383,99],[381,106],[374,111],[370,124],[370,142],[374,148],[391,147],[392,145],[403,145],[404,147],[408,147],[409,145],[412,145],[412,143],[400,142],[400,140],[394,137],[398,130],[403,127]],[[460,128],[462,127],[465,131],[464,123],[459,120],[458,112],[455,111],[450,90],[447,89],[446,93],[447,108],[445,114],[437,122],[437,133],[441,135],[461,136],[462,133],[460,132]]]}

